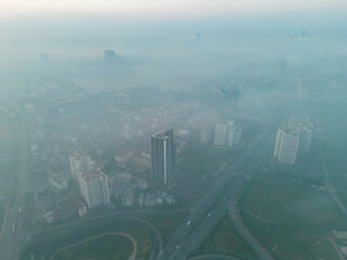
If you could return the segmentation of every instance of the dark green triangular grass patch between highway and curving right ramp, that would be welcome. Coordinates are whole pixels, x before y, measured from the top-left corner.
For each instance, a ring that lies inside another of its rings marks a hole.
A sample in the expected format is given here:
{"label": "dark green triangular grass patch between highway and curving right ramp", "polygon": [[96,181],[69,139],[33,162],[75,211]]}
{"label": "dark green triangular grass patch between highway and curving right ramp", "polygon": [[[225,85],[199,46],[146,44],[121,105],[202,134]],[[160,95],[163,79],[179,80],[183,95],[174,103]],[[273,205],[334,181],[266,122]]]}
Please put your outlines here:
{"label": "dark green triangular grass patch between highway and curving right ramp", "polygon": [[206,253],[228,255],[240,257],[241,259],[256,259],[256,255],[239,235],[228,213],[224,214],[208,238],[191,256]]}

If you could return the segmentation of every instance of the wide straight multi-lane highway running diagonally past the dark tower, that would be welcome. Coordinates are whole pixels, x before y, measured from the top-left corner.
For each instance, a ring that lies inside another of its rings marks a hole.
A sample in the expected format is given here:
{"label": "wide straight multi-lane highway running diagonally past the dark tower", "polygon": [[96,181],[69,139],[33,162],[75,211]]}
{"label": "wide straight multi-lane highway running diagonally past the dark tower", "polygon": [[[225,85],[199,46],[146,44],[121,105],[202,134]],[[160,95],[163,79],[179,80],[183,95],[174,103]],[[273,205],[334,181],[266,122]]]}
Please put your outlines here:
{"label": "wide straight multi-lane highway running diagonally past the dark tower", "polygon": [[[275,110],[275,109],[274,109]],[[170,240],[158,257],[158,260],[187,259],[192,250],[208,236],[213,227],[226,213],[230,203],[235,202],[247,180],[252,178],[250,170],[264,158],[264,150],[272,142],[283,112],[275,110],[271,123],[267,123],[256,139],[248,144],[239,158],[233,162],[233,172],[244,171],[244,174],[227,172],[220,177],[208,193],[195,204],[187,219],[172,233]],[[245,226],[240,226],[243,233],[249,233]],[[252,237],[250,237],[252,238]],[[252,244],[258,244],[253,239]],[[261,248],[256,251],[260,259],[272,260],[271,256]]]}

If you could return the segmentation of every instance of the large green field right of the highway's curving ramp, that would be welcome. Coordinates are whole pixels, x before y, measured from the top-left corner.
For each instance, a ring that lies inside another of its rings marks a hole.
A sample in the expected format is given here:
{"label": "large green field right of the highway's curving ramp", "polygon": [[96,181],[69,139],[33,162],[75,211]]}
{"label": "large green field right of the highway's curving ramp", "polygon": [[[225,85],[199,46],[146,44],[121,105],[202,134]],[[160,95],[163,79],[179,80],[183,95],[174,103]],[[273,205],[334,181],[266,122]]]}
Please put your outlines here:
{"label": "large green field right of the highway's curving ramp", "polygon": [[275,259],[338,259],[327,232],[347,220],[324,191],[261,169],[240,202],[250,232]]}

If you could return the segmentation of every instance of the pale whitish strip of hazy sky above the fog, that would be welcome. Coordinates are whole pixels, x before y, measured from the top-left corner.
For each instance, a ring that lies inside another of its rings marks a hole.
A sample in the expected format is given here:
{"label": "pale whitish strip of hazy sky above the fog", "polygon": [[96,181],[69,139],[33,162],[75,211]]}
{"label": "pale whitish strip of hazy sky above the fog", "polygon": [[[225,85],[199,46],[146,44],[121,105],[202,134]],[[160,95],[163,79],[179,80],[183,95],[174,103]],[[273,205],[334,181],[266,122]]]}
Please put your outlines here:
{"label": "pale whitish strip of hazy sky above the fog", "polygon": [[340,8],[347,8],[346,0],[0,0],[0,16],[114,13],[123,16],[198,17]]}

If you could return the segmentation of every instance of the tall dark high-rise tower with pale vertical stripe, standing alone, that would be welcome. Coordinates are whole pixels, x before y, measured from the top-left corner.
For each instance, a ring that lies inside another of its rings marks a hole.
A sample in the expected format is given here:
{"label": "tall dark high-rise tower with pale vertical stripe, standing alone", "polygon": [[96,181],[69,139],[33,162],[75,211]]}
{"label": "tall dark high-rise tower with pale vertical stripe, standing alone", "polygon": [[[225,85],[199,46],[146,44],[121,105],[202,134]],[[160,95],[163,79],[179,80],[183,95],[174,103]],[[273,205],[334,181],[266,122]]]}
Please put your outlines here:
{"label": "tall dark high-rise tower with pale vertical stripe, standing alone", "polygon": [[151,176],[156,183],[168,185],[176,172],[174,129],[167,128],[151,135]]}

